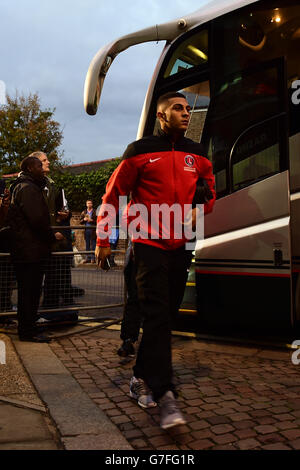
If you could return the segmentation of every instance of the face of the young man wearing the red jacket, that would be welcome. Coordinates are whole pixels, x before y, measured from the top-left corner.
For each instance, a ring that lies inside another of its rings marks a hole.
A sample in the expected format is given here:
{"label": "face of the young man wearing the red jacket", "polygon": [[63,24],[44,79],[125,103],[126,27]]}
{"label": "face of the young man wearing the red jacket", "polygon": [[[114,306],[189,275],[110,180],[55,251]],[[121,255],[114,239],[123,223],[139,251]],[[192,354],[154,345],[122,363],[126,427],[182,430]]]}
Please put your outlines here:
{"label": "face of the young man wearing the red jacket", "polygon": [[157,112],[162,129],[184,133],[189,125],[190,110],[185,98],[170,98]]}

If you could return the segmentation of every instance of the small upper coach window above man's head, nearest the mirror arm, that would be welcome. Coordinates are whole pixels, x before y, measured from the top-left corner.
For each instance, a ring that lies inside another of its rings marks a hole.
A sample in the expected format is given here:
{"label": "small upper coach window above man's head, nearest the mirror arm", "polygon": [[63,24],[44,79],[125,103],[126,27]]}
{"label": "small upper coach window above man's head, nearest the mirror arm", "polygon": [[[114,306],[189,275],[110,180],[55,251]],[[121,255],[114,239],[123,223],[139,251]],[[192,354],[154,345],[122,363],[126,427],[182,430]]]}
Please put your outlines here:
{"label": "small upper coach window above man's head, nearest the mirror arm", "polygon": [[208,61],[208,32],[201,31],[184,41],[173,53],[164,78],[183,70],[194,68]]}

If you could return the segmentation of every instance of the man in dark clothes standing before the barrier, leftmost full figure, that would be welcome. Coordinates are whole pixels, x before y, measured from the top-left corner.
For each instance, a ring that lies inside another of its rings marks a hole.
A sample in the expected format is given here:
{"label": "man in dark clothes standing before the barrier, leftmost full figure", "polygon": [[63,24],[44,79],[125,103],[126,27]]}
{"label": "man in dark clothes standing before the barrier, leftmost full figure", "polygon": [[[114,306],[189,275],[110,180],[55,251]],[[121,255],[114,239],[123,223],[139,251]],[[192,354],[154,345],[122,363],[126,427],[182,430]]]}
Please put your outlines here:
{"label": "man in dark clothes standing before the barrier, leftmost full figure", "polygon": [[53,233],[43,195],[45,178],[37,157],[21,162],[21,173],[12,186],[7,222],[11,228],[11,259],[18,284],[18,334],[21,341],[44,343],[49,338],[38,333],[37,310],[51,245],[63,240]]}

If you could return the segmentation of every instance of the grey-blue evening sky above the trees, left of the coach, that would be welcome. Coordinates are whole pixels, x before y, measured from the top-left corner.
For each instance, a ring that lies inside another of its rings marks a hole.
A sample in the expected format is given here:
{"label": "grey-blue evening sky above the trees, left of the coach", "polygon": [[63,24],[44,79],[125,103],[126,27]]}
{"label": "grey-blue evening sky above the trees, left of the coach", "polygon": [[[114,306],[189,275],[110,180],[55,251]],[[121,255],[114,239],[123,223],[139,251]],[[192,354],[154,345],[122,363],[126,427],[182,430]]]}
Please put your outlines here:
{"label": "grey-blue evening sky above the trees, left of the coach", "polygon": [[101,108],[88,116],[83,86],[98,49],[130,32],[199,9],[203,0],[0,0],[0,81],[14,95],[38,92],[56,108],[62,149],[71,163],[123,153],[139,115],[163,42],[135,46],[110,68]]}

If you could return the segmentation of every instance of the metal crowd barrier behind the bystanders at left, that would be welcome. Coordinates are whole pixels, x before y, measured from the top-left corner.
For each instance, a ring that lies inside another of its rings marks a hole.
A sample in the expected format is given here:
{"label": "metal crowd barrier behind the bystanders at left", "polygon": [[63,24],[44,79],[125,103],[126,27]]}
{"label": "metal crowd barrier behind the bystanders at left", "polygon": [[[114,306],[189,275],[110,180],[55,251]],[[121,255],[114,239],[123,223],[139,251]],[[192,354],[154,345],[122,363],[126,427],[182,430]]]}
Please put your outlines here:
{"label": "metal crowd barrier behind the bystanders at left", "polygon": [[[84,226],[52,227],[59,231],[84,230]],[[93,257],[93,251],[56,251],[44,265],[45,276],[41,292],[39,314],[80,312],[92,314],[105,310],[105,314],[122,312],[124,305],[124,249],[112,250],[114,263],[109,271],[96,264],[84,263],[85,257]],[[0,253],[0,319],[16,315],[17,283],[10,255]]]}

